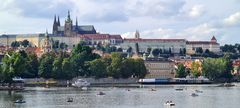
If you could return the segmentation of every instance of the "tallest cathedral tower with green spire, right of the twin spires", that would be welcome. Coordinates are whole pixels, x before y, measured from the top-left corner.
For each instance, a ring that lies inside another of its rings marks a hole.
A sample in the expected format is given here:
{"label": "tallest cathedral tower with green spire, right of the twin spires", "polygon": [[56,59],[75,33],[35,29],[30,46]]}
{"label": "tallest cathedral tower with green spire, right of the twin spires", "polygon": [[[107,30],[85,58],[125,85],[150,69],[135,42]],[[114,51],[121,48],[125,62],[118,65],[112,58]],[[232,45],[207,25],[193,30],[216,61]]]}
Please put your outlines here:
{"label": "tallest cathedral tower with green spire, right of the twin spires", "polygon": [[71,16],[70,16],[69,11],[68,11],[68,17],[65,20],[64,36],[67,36],[67,37],[72,36],[72,20],[71,20]]}

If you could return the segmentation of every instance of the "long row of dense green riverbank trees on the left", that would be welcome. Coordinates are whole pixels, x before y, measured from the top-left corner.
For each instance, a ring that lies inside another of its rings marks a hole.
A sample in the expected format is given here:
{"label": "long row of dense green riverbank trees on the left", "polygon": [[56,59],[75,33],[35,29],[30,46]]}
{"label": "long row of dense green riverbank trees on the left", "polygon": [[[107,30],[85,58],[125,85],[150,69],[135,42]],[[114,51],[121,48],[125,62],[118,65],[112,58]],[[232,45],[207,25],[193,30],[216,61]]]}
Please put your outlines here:
{"label": "long row of dense green riverbank trees on the left", "polygon": [[92,50],[89,46],[78,44],[70,54],[50,52],[41,58],[25,51],[8,52],[0,66],[0,80],[11,82],[13,77],[70,80],[77,76],[143,78],[147,73],[142,59],[125,58],[119,52],[101,58]]}

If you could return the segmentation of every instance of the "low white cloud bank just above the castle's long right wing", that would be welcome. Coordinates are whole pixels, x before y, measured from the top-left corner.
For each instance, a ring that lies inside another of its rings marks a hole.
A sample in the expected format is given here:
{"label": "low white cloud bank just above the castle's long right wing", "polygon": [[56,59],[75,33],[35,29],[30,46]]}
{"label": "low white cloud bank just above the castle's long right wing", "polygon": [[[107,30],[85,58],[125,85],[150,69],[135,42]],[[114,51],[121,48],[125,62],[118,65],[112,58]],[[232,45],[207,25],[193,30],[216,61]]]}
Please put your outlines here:
{"label": "low white cloud bank just above the castle's long right wing", "polygon": [[[140,32],[141,38],[152,39],[187,39],[195,41],[210,40],[212,35],[218,35],[217,28],[211,24],[204,23],[197,26],[185,28],[182,31],[176,29],[158,28],[153,30],[145,30]],[[134,32],[127,32],[122,34],[124,38],[133,38]],[[217,36],[218,37],[218,36]]]}

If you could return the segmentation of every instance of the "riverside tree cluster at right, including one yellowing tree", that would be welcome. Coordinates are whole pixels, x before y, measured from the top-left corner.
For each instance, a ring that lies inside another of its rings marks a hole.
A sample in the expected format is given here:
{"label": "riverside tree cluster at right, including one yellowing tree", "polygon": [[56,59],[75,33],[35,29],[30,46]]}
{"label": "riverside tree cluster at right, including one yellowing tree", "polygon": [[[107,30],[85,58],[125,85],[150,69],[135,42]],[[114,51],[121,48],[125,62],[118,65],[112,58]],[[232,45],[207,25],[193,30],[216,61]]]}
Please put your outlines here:
{"label": "riverside tree cluster at right, including one yellowing tree", "polygon": [[184,78],[187,75],[194,77],[205,76],[210,80],[230,81],[232,75],[232,62],[230,57],[225,55],[220,58],[205,58],[203,62],[193,62],[190,69],[186,69],[183,64],[179,64],[176,69],[176,77]]}

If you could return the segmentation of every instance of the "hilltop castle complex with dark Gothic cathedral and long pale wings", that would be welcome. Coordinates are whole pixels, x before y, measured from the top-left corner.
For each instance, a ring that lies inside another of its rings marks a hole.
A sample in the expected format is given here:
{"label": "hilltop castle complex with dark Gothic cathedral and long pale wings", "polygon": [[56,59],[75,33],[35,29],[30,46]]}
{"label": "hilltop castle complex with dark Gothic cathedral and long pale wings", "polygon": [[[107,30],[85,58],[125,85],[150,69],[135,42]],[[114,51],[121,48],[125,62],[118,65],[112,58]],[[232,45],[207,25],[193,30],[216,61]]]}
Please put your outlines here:
{"label": "hilltop castle complex with dark Gothic cathedral and long pale wings", "polygon": [[[129,47],[135,49],[138,43],[140,52],[147,52],[148,48],[158,48],[163,51],[169,51],[173,54],[178,54],[185,50],[188,54],[194,54],[197,48],[202,48],[203,51],[207,49],[211,52],[220,52],[220,44],[213,36],[210,41],[188,41],[186,39],[143,39],[140,38],[140,33],[135,33],[135,38],[122,39],[120,35],[100,34],[96,32],[93,25],[78,25],[76,18],[75,25],[71,19],[70,12],[61,26],[59,17],[54,16],[52,34],[4,34],[0,36],[0,46],[11,46],[14,41],[28,40],[32,47],[38,47],[43,52],[49,51],[54,42],[65,43],[68,49],[72,49],[80,41],[85,41],[88,45],[111,45],[117,48],[121,47],[126,51]],[[46,45],[47,44],[47,45]],[[46,49],[47,48],[47,49]]]}

